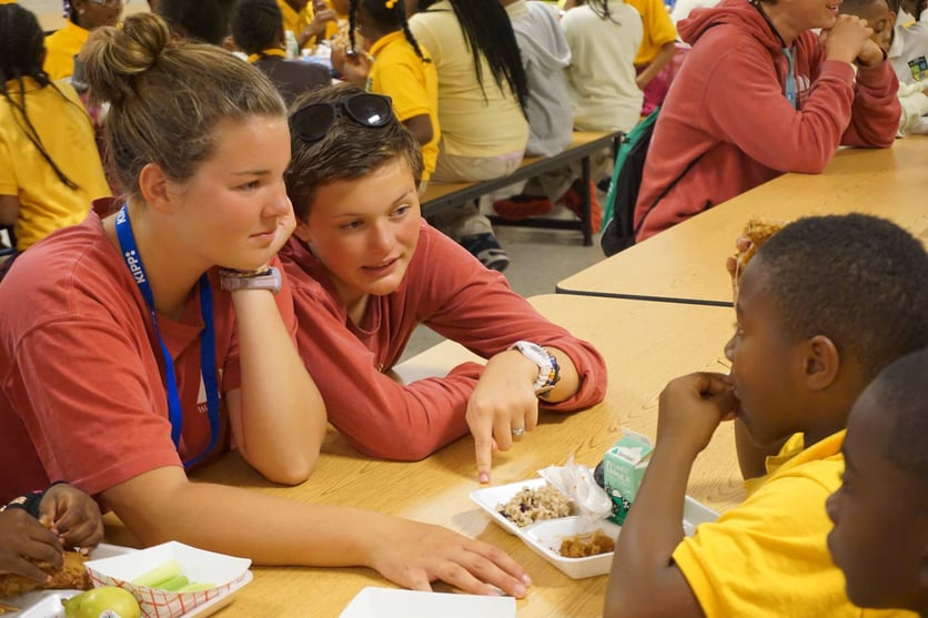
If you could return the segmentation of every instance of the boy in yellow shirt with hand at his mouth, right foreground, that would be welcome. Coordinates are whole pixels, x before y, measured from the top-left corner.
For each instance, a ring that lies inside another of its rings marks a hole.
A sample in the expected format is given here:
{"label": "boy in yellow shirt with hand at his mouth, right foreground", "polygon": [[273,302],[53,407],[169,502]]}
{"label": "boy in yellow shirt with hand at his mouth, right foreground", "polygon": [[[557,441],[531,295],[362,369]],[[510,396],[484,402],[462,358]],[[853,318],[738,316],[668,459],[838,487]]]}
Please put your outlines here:
{"label": "boy in yellow shirt with hand at his mouth, right foreground", "polygon": [[[878,616],[845,592],[825,503],[840,483],[855,399],[887,364],[928,345],[928,253],[875,216],[801,219],[744,269],[735,313],[730,375],[693,374],[660,395],[606,616]],[[693,462],[732,419],[748,496],[684,538]]]}

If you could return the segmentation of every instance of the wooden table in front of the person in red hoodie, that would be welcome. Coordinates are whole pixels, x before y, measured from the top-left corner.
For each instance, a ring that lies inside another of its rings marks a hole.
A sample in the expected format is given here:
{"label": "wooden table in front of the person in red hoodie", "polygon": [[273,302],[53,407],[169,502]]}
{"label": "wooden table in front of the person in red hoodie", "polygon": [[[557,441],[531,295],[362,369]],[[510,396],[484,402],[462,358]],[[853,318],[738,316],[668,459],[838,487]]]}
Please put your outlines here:
{"label": "wooden table in front of the person in red hoodie", "polygon": [[928,138],[891,149],[843,149],[823,174],[784,174],[589,266],[557,292],[708,305],[732,304],[725,259],[752,216],[791,221],[865,212],[928,244]]}

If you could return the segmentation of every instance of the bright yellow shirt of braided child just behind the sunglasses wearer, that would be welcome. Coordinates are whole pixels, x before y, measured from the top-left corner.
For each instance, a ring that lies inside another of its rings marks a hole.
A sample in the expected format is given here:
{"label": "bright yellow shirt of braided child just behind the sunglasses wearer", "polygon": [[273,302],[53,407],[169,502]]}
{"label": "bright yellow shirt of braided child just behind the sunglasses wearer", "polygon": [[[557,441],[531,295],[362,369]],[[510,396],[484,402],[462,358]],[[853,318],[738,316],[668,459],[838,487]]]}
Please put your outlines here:
{"label": "bright yellow shirt of braided child just behind the sunglasses wearer", "polygon": [[[424,49],[422,52],[428,58]],[[421,114],[428,114],[432,120],[432,141],[422,144],[422,180],[427,181],[435,171],[441,138],[435,63],[420,59],[400,30],[377,39],[370,53],[374,63],[367,73],[367,90],[390,97],[400,122]]]}

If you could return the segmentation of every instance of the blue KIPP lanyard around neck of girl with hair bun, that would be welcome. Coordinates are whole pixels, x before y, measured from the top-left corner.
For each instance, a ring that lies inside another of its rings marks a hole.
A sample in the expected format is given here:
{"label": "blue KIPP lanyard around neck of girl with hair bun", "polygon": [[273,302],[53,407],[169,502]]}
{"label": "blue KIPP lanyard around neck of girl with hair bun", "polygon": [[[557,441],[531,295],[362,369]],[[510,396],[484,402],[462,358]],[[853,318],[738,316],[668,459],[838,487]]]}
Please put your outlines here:
{"label": "blue KIPP lanyard around neck of girl with hair bun", "polygon": [[[158,335],[158,343],[161,344],[161,356],[164,359],[164,382],[168,391],[168,414],[171,421],[171,439],[174,448],[181,444],[181,429],[183,428],[183,411],[181,398],[178,393],[178,378],[174,374],[174,362],[171,359],[171,352],[161,336],[161,328],[158,326],[158,311],[154,308],[154,294],[151,291],[145,267],[142,265],[142,256],[139,255],[135,245],[135,235],[132,233],[132,224],[129,221],[129,211],[125,205],[120,209],[115,216],[115,231],[119,245],[122,249],[122,259],[132,278],[139,285],[139,291],[145,298],[145,304],[151,311],[151,321],[154,324],[154,333]],[[184,462],[185,468],[200,462],[206,454],[211,453],[219,442],[219,386],[215,378],[215,331],[213,328],[213,293],[210,287],[210,278],[203,274],[200,277],[200,313],[203,316],[203,332],[200,334],[200,369],[203,374],[203,385],[206,391],[206,411],[210,417],[210,445],[206,449]]]}

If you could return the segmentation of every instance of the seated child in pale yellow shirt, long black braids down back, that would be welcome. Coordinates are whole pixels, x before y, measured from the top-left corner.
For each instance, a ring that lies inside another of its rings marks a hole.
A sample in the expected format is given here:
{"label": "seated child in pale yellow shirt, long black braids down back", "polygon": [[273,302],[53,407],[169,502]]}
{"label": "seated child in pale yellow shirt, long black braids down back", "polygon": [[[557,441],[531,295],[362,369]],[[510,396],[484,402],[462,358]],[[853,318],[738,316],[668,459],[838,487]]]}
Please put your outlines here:
{"label": "seated child in pale yellow shirt, long black braids down back", "polygon": [[[528,80],[506,10],[498,0],[418,0],[410,29],[438,72],[442,139],[432,182],[512,174],[528,143]],[[467,204],[432,223],[483,264],[510,264],[490,220]]]}

